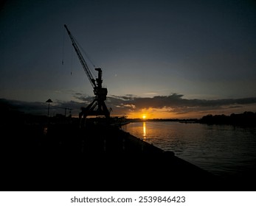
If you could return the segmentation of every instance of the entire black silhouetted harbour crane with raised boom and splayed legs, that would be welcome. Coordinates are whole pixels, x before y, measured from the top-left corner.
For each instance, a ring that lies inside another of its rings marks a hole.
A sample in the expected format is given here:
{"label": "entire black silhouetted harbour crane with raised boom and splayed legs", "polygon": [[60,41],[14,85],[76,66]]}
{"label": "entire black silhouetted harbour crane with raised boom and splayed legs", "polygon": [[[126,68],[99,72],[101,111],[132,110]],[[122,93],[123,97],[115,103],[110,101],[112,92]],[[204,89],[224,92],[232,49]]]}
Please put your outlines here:
{"label": "entire black silhouetted harbour crane with raised boom and splayed legs", "polygon": [[105,118],[109,119],[110,113],[104,102],[108,94],[108,90],[107,88],[103,88],[103,79],[102,79],[103,71],[101,68],[95,68],[95,70],[98,73],[98,76],[95,80],[91,74],[91,71],[86,61],[83,58],[83,55],[80,52],[80,49],[77,46],[75,38],[73,37],[72,33],[69,31],[66,24],[64,24],[64,27],[66,28],[69,38],[72,41],[72,46],[74,47],[77,53],[77,57],[80,60],[81,65],[83,66],[83,70],[86,72],[86,75],[89,78],[89,81],[91,82],[91,86],[93,88],[94,95],[95,95],[94,100],[87,107],[81,107],[81,112],[79,113],[80,124],[81,124],[82,118],[86,120],[87,116],[105,116]]}

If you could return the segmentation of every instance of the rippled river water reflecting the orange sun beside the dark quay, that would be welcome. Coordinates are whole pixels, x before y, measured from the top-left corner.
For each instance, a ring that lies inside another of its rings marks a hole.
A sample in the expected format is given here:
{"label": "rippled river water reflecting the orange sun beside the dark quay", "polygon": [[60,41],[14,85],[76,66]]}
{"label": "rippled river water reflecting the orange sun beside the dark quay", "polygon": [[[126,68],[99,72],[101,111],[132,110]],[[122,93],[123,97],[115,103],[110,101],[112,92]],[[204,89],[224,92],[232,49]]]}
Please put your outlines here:
{"label": "rippled river water reflecting the orange sun beside the dark quay", "polygon": [[144,121],[122,129],[222,177],[256,171],[255,127]]}

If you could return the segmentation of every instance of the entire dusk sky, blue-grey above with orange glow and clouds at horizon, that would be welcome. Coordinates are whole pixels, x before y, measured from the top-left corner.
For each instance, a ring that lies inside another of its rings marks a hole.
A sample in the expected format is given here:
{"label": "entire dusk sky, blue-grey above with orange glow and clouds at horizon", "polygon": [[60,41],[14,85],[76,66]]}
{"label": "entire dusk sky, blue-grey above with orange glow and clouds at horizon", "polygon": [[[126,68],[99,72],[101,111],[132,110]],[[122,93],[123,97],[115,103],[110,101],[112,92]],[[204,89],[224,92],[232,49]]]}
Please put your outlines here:
{"label": "entire dusk sky, blue-grey above with orange glow and clouds at horizon", "polygon": [[255,1],[5,1],[0,98],[74,110],[91,101],[63,24],[103,69],[114,114],[256,112]]}

